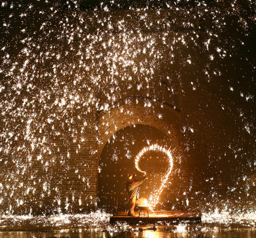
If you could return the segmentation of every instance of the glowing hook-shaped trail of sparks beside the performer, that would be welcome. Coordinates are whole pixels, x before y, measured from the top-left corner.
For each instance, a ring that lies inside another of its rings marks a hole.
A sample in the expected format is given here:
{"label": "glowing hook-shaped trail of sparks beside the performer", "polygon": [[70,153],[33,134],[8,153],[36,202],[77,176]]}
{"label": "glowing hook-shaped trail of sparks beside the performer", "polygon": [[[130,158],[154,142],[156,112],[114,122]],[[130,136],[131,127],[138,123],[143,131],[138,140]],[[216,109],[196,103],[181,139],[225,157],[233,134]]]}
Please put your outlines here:
{"label": "glowing hook-shaped trail of sparks beside the performer", "polygon": [[144,153],[146,153],[148,151],[160,151],[162,153],[165,153],[168,157],[168,165],[169,165],[168,166],[168,171],[167,171],[166,175],[164,175],[164,178],[161,181],[160,188],[157,190],[157,192],[153,192],[153,195],[150,198],[151,208],[154,209],[155,206],[159,202],[160,194],[162,193],[162,190],[164,189],[164,186],[166,186],[166,182],[167,182],[167,180],[170,176],[170,173],[172,172],[173,159],[172,159],[172,152],[169,149],[166,149],[166,148],[164,148],[160,145],[154,144],[154,145],[144,147],[143,149],[141,149],[141,151],[139,151],[139,153],[135,157],[135,167],[141,173],[146,173],[146,171],[143,171],[139,167],[139,161],[141,160],[141,157],[144,155]]}

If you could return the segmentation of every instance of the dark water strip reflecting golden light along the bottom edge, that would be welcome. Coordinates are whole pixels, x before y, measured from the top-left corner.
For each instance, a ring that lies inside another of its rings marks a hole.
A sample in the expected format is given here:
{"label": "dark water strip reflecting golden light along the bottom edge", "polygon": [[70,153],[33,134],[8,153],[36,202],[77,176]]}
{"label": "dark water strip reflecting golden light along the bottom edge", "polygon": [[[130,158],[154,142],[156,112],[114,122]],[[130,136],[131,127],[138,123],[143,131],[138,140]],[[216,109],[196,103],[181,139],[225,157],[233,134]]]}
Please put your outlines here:
{"label": "dark water strip reflecting golden light along the bottom edge", "polygon": [[[167,229],[167,230],[166,230]],[[170,229],[170,227],[135,227],[130,231],[70,231],[54,230],[54,231],[0,231],[0,238],[180,238],[180,237],[256,237],[255,228],[218,228],[218,227],[186,227],[184,231],[178,229]]]}

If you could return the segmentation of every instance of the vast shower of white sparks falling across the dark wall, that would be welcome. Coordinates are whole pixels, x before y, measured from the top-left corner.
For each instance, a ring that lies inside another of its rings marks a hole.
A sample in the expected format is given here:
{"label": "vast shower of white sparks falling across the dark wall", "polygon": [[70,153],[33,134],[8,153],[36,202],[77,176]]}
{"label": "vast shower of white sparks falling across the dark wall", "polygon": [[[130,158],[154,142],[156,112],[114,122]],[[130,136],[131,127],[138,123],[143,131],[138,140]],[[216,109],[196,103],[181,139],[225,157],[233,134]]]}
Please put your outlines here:
{"label": "vast shower of white sparks falling across the dark wall", "polygon": [[[182,146],[188,154],[204,149],[209,163],[202,180],[212,195],[196,190],[194,181],[185,194],[202,196],[206,207],[227,200],[233,208],[235,197],[237,206],[250,208],[254,1],[226,1],[225,8],[211,7],[213,1],[190,7],[166,1],[113,11],[115,2],[102,1],[91,11],[79,0],[2,1],[0,214],[68,213],[95,205],[94,115],[131,95],[182,106]],[[144,106],[145,113],[153,108],[149,100]],[[126,113],[133,114],[120,108],[123,118]]]}

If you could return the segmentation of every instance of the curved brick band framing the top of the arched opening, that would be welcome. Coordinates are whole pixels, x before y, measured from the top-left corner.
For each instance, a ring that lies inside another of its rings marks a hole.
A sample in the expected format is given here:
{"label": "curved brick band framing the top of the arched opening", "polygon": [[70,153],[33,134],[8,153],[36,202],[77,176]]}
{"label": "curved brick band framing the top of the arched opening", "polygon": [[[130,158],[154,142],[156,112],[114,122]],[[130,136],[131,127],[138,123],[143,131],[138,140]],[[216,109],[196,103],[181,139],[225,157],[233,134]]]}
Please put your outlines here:
{"label": "curved brick band framing the top of the arched opening", "polygon": [[113,106],[109,112],[98,116],[99,125],[99,156],[107,139],[115,132],[133,124],[153,126],[164,132],[175,145],[179,139],[180,112],[170,105],[152,99],[132,99],[125,104]]}

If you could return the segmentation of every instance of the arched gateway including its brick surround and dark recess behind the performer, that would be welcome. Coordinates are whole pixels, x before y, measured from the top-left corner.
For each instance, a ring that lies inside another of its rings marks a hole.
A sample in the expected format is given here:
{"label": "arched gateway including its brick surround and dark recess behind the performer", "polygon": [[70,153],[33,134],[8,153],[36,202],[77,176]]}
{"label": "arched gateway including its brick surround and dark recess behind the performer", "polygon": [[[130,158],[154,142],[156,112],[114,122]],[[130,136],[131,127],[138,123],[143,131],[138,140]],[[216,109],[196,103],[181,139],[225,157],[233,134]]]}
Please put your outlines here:
{"label": "arched gateway including its brick surround and dark recess behind the performer", "polygon": [[[119,209],[125,210],[127,192],[125,182],[128,173],[143,177],[135,169],[134,158],[143,147],[157,143],[167,149],[180,152],[179,122],[180,111],[159,100],[123,100],[105,113],[99,114],[98,122],[98,208],[111,210],[113,198],[118,198]],[[178,152],[178,153],[177,153]],[[178,168],[174,156],[174,168]],[[166,154],[150,151],[141,158],[141,167],[147,169],[149,180],[141,185],[139,196],[149,198],[161,184],[164,173],[168,171]],[[174,206],[174,200],[181,182],[178,173],[168,180],[162,191],[157,209]],[[173,186],[170,186],[170,183]]]}

